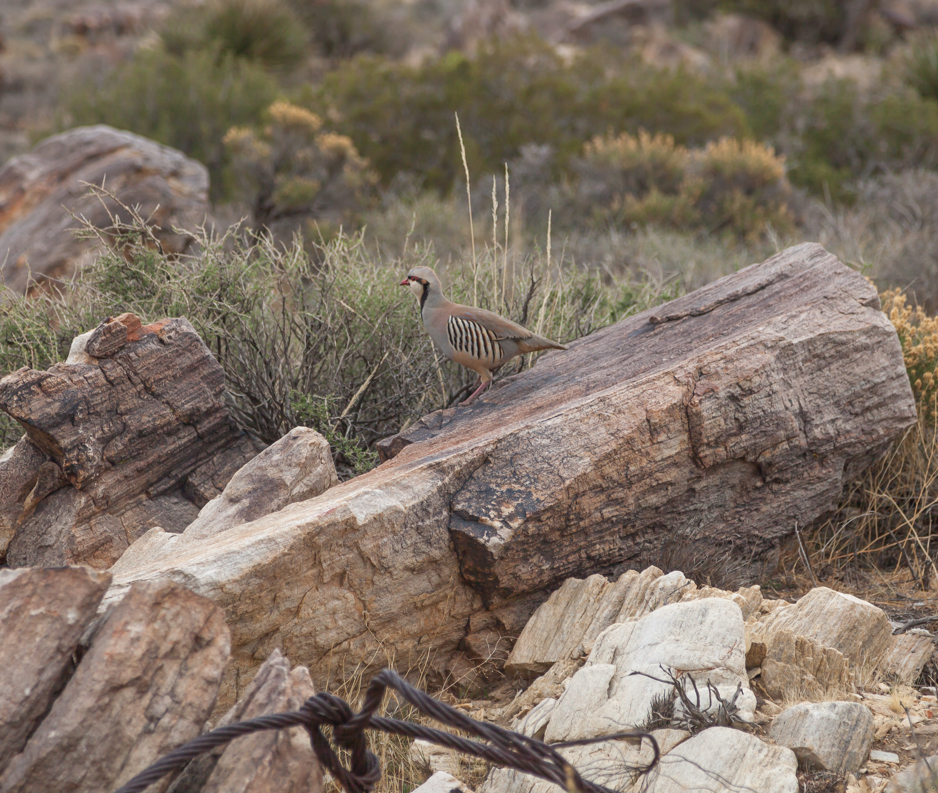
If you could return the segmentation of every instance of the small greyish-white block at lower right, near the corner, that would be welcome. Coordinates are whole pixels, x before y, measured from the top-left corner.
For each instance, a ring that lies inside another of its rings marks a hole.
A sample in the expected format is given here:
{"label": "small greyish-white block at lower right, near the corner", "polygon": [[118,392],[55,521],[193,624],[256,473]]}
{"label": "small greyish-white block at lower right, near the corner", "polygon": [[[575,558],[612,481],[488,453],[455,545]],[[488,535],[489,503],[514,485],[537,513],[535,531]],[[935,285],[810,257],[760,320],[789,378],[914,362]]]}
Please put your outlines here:
{"label": "small greyish-white block at lower right, near the corner", "polygon": [[768,735],[824,771],[856,771],[873,741],[873,715],[859,702],[802,702],[782,711]]}

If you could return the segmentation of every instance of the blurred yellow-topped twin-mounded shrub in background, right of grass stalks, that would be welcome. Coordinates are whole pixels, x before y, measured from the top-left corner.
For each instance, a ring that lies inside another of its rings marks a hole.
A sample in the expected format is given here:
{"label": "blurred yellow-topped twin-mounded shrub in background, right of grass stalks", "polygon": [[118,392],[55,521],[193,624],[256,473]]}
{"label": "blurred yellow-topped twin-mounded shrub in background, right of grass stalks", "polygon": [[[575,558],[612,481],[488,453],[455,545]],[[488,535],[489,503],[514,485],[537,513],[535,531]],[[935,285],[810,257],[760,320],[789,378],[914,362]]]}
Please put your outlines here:
{"label": "blurred yellow-topped twin-mounded shrub in background, right of grass stalks", "polygon": [[723,138],[691,150],[640,132],[596,138],[577,163],[581,210],[599,223],[729,232],[757,239],[791,226],[784,158],[760,143]]}

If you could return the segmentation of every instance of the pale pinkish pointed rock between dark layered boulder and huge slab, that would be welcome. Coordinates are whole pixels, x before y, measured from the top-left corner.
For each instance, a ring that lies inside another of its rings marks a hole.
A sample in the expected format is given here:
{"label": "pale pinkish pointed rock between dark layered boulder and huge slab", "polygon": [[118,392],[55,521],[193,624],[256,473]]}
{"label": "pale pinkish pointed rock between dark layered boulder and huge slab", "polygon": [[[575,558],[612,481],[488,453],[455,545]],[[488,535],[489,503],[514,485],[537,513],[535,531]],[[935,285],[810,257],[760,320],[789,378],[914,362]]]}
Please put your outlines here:
{"label": "pale pinkish pointed rock between dark layered boulder and huge slab", "polygon": [[161,526],[140,536],[113,565],[120,575],[140,564],[178,554],[189,543],[202,543],[222,531],[306,501],[337,485],[339,477],[328,441],[316,430],[297,426],[237,471],[221,495],[202,508],[185,531]]}

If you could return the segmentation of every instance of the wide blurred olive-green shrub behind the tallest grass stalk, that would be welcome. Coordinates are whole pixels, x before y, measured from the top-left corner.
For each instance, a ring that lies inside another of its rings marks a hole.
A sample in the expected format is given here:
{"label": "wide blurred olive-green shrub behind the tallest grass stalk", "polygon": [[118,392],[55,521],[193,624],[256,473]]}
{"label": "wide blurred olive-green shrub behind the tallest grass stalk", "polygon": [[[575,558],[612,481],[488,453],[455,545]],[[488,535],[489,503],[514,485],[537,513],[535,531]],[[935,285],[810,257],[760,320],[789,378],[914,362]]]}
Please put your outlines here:
{"label": "wide blurred olive-green shrub behind the tallest grass stalk", "polygon": [[719,86],[686,71],[658,70],[605,48],[569,63],[535,37],[492,40],[476,55],[449,52],[420,67],[359,56],[311,87],[303,103],[337,117],[387,184],[419,173],[448,191],[461,176],[453,112],[459,112],[470,171],[501,172],[526,144],[550,145],[554,175],[582,144],[609,128],[673,134],[703,144],[746,131]]}

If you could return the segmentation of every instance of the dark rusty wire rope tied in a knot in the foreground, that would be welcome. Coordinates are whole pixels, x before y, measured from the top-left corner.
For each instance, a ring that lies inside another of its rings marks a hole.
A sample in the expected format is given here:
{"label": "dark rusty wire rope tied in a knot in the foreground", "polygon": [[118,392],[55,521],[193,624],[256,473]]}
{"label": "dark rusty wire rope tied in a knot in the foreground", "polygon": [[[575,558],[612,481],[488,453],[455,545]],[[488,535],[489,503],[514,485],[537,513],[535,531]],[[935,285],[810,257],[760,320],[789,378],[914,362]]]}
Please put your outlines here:
{"label": "dark rusty wire rope tied in a knot in the foreground", "polygon": [[[418,711],[431,716],[437,722],[460,729],[486,742],[470,741],[467,738],[461,738],[458,735],[433,727],[376,716],[375,711],[381,707],[382,699],[388,688],[393,688]],[[378,758],[368,749],[365,738],[366,729],[376,729],[394,735],[403,735],[407,738],[431,741],[465,755],[482,757],[492,765],[522,771],[546,779],[548,782],[563,787],[569,793],[615,793],[615,791],[609,787],[582,779],[576,769],[556,751],[555,747],[610,741],[617,738],[647,739],[651,743],[655,756],[647,766],[633,769],[639,774],[646,773],[654,768],[658,763],[659,756],[658,743],[655,739],[648,733],[639,731],[622,732],[599,739],[568,741],[567,743],[548,745],[500,726],[477,722],[466,713],[451,708],[401,680],[401,677],[390,669],[384,669],[371,680],[371,684],[365,693],[362,709],[357,713],[354,713],[348,703],[339,696],[325,693],[310,696],[298,711],[261,716],[250,719],[250,721],[219,727],[219,729],[207,732],[174,749],[169,755],[162,757],[145,771],[137,774],[115,793],[142,793],[148,786],[158,782],[166,774],[182,771],[190,760],[209,749],[222,746],[228,741],[250,735],[253,732],[292,726],[306,728],[306,731],[310,734],[312,749],[319,762],[323,765],[325,771],[332,774],[346,793],[368,793],[381,778],[381,767],[378,764]],[[321,730],[322,726],[330,726],[333,740],[342,749],[348,751],[350,757],[348,769],[341,764],[339,756],[329,745],[329,741]]]}

